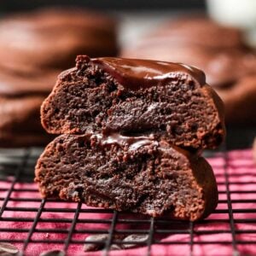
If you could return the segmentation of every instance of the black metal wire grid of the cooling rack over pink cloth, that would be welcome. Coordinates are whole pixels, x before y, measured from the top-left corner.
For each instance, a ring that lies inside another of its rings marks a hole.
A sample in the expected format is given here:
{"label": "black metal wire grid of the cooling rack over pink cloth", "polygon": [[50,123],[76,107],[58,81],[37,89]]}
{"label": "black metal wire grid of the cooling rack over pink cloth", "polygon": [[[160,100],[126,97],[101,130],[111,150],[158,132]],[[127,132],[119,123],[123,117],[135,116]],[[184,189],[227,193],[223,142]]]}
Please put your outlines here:
{"label": "black metal wire grid of the cooling rack over pink cloth", "polygon": [[[256,209],[243,207],[234,209],[232,207],[235,203],[256,203],[256,190],[230,189],[231,185],[253,185],[255,182],[233,181],[231,177],[239,177],[239,173],[230,174],[228,168],[231,164],[225,148],[222,153],[218,153],[224,160],[224,173],[218,174],[223,176],[223,179],[218,182],[218,185],[221,186],[218,193],[219,195],[226,195],[226,199],[220,199],[218,203],[227,205],[227,208],[215,210],[215,212],[212,213],[215,218],[203,219],[196,223],[186,223],[169,218],[138,218],[137,214],[133,213],[115,212],[101,208],[84,208],[81,203],[75,205],[73,202],[70,202],[70,204],[73,204],[74,207],[58,207],[61,201],[53,199],[42,200],[38,195],[38,190],[31,187],[33,168],[38,154],[40,153],[40,151],[37,150],[33,148],[25,148],[17,152],[0,150],[0,181],[8,184],[8,186],[0,188],[0,233],[9,234],[11,232],[17,234],[11,238],[1,236],[0,242],[10,242],[14,244],[20,242],[22,244],[20,253],[26,254],[26,250],[31,244],[38,243],[55,243],[59,245],[65,253],[68,253],[69,247],[73,245],[82,247],[86,243],[102,244],[102,241],[84,241],[84,237],[88,234],[108,235],[108,239],[103,242],[104,248],[102,255],[104,256],[108,255],[113,243],[118,245],[129,244],[127,241],[116,240],[116,235],[128,236],[131,234],[148,235],[146,241],[132,241],[132,243],[137,246],[147,248],[145,255],[150,255],[153,244],[187,245],[189,247],[188,254],[190,255],[193,255],[195,245],[227,245],[233,248],[233,255],[239,255],[240,245],[256,246],[256,241],[249,238],[241,239],[239,236],[240,234],[256,234],[256,230],[251,228],[239,230],[237,227],[237,224],[256,224],[256,218],[253,218],[252,215],[256,213]],[[247,172],[244,173],[246,174]],[[251,175],[253,174],[251,173]],[[26,183],[24,183],[25,185],[22,186],[22,188],[16,186],[16,184],[24,181]],[[22,195],[24,193],[26,193],[26,195],[30,193],[31,196],[15,196],[16,194]],[[250,193],[252,197],[244,200],[232,199],[232,195],[237,193]],[[38,207],[28,207],[28,203],[37,203]],[[53,203],[54,205],[52,205]],[[51,204],[51,207],[49,207],[49,204]],[[13,212],[20,212],[21,216],[16,217],[13,214],[9,214]],[[34,218],[26,215],[26,212],[34,212]],[[51,215],[45,217],[45,213],[50,213]],[[252,214],[250,218],[235,218],[236,213]],[[57,218],[55,214],[61,214],[61,218]],[[98,214],[95,216],[108,215],[108,218],[95,218],[94,214]],[[218,218],[219,214],[226,214],[227,217]],[[27,226],[25,228],[7,228],[3,225],[11,222],[22,222],[27,224]],[[38,224],[59,224],[60,227],[53,230],[47,227],[40,228]],[[84,228],[84,224],[90,224],[90,228]],[[101,226],[97,228],[99,224],[104,227]],[[202,224],[204,225],[204,229],[197,230],[196,228]],[[221,230],[207,229],[207,227],[212,224],[225,224],[225,227]],[[68,225],[69,227],[67,228]],[[128,227],[125,229],[119,228],[120,225]],[[44,239],[44,236],[33,238],[33,236],[38,233],[49,236],[50,238]],[[56,237],[55,234],[63,235],[63,239]],[[215,234],[230,234],[231,239],[216,241],[209,236]],[[188,240],[166,241],[162,239],[162,237],[170,235],[187,235]],[[196,236],[209,236],[209,239],[196,240]]]}

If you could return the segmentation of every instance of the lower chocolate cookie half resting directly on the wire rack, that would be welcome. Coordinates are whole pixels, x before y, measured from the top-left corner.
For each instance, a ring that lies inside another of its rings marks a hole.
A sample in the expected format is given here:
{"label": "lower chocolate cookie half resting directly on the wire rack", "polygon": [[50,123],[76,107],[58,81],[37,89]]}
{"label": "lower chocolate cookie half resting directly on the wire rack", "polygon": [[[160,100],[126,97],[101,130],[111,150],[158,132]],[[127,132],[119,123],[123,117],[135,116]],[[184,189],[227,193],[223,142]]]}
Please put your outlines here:
{"label": "lower chocolate cookie half resting directly on the wire rack", "polygon": [[206,160],[152,137],[61,135],[39,158],[35,181],[43,197],[153,217],[195,221],[218,201]]}

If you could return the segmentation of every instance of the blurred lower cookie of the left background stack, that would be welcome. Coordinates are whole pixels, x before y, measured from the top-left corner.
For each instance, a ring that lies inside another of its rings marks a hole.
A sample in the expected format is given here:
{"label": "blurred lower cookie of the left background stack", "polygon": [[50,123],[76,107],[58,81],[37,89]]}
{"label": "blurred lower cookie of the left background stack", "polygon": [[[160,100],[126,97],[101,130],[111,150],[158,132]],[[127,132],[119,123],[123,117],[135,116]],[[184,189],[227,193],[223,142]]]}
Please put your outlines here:
{"label": "blurred lower cookie of the left background stack", "polygon": [[0,147],[42,146],[53,136],[40,123],[40,106],[58,71],[38,75],[0,72]]}

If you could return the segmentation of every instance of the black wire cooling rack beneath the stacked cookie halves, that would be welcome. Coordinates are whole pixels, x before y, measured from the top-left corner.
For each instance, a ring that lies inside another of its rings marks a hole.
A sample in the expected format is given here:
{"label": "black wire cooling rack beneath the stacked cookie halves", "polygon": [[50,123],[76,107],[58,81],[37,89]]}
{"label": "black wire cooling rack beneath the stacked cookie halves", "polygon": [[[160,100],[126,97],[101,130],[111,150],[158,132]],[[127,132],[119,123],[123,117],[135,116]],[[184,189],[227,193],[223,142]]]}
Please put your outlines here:
{"label": "black wire cooling rack beneath the stacked cookie halves", "polygon": [[[224,170],[215,173],[218,208],[211,218],[196,223],[173,221],[166,217],[147,218],[128,212],[86,207],[81,203],[42,200],[32,183],[33,168],[40,152],[38,148],[0,150],[0,243],[16,245],[20,254],[27,255],[36,247],[38,254],[43,248],[55,248],[73,255],[74,248],[79,248],[80,254],[86,255],[84,245],[87,244],[94,245],[94,250],[102,247],[99,255],[108,255],[114,246],[124,248],[130,243],[131,247],[141,248],[140,255],[150,255],[154,245],[182,247],[186,255],[194,255],[196,247],[204,246],[207,255],[207,246],[221,245],[229,247],[233,255],[240,255],[242,245],[256,246],[256,209],[247,208],[247,204],[256,203],[256,191],[244,189],[248,185],[255,186],[256,182],[241,181],[244,173],[230,174],[230,161],[225,150],[217,153],[223,160],[221,167]],[[218,170],[220,166],[212,167]],[[256,172],[247,174],[255,176]],[[239,189],[230,189],[232,185],[238,185]],[[250,193],[250,199],[232,196],[247,193]],[[242,218],[239,218],[241,213]],[[240,224],[245,227],[240,229]],[[86,241],[85,237],[96,237],[97,234],[105,234],[105,239]],[[144,239],[132,242],[123,239],[133,234],[144,235]],[[248,236],[244,238],[241,234]]]}

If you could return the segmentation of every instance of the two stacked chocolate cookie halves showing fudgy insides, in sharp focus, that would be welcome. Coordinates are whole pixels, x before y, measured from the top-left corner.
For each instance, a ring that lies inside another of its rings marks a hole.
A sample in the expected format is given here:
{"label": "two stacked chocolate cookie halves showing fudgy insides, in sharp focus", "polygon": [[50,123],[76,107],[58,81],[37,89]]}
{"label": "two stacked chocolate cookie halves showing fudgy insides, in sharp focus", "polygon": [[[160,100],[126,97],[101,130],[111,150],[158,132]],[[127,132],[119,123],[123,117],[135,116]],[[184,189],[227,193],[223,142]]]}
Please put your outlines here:
{"label": "two stacked chocolate cookie halves showing fudgy insides, in sharp focus", "polygon": [[224,139],[223,104],[195,67],[77,57],[41,108],[35,181],[46,198],[196,220],[218,202],[201,157]]}

